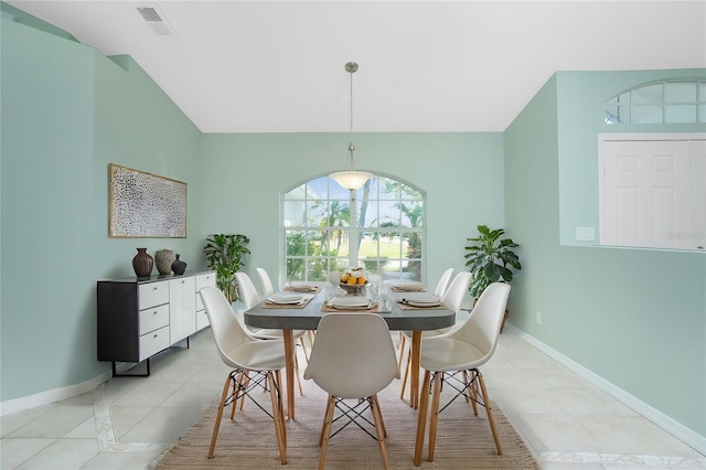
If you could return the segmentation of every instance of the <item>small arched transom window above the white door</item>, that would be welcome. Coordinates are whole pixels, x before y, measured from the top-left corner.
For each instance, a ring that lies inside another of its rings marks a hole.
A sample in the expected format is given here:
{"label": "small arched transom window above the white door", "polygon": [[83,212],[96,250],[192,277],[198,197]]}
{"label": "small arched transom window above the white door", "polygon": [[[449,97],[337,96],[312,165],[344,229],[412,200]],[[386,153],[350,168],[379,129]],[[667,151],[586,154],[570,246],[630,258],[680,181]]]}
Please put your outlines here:
{"label": "small arched transom window above the white door", "polygon": [[706,122],[706,82],[665,81],[635,86],[606,102],[606,122]]}

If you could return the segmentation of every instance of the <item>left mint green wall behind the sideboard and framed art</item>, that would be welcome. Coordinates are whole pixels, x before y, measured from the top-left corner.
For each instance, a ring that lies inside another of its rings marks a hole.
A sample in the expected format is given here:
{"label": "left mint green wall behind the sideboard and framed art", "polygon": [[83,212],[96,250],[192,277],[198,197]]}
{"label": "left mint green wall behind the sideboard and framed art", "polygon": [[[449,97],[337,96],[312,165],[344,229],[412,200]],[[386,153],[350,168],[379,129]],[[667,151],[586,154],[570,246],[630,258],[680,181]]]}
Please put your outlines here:
{"label": "left mint green wall behind the sideboard and framed art", "polygon": [[[3,6],[3,10],[6,10]],[[3,15],[2,402],[81,384],[96,361],[96,280],[133,276],[136,247],[203,265],[201,132],[129,60]],[[189,238],[108,237],[108,163],[189,184]],[[192,263],[190,263],[192,265]]]}

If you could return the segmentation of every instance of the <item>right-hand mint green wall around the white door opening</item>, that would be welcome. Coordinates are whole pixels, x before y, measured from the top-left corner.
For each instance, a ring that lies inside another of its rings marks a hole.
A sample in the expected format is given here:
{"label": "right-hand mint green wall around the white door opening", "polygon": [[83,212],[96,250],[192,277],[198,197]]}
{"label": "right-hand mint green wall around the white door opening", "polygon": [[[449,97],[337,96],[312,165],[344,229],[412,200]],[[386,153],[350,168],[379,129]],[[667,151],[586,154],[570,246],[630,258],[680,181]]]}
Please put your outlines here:
{"label": "right-hand mint green wall around the white door opening", "polygon": [[597,220],[606,130],[587,121],[612,94],[657,75],[693,72],[557,73],[505,131],[506,226],[523,258],[511,322],[703,437],[706,254],[563,245],[574,225]]}

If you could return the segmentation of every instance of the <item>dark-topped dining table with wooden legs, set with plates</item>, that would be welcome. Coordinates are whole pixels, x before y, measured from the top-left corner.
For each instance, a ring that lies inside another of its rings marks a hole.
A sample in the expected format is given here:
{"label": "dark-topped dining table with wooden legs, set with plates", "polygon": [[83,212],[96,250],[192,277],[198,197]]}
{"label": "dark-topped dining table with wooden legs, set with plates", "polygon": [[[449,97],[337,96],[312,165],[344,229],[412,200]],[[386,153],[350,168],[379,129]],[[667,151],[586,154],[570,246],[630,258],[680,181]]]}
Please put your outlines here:
{"label": "dark-topped dining table with wooden legs, set with plates", "polygon": [[[322,292],[323,285],[311,284],[311,290],[308,293],[302,293],[302,301],[299,303],[277,303],[271,300],[265,299],[254,306],[253,308],[245,310],[243,313],[243,320],[245,324],[256,328],[278,329],[282,330],[282,339],[285,343],[285,359],[286,359],[286,391],[287,391],[287,416],[289,419],[295,419],[295,330],[317,330],[319,320],[327,313],[335,312],[336,314],[345,314],[345,312],[360,312],[361,309],[346,309],[331,308],[331,303],[327,301]],[[287,291],[284,293],[292,293]],[[298,288],[297,291],[301,291]],[[421,288],[415,290],[424,290]],[[391,291],[389,302],[379,302],[379,305],[387,303],[389,311],[378,311],[378,302],[371,301],[370,308],[364,309],[371,314],[381,316],[391,331],[410,331],[411,344],[410,344],[410,406],[415,409],[419,405],[419,353],[421,349],[422,331],[438,330],[453,325],[456,322],[456,312],[448,309],[443,303],[432,305],[426,307],[410,306],[406,301],[406,297],[414,297],[416,293],[405,291]],[[270,298],[271,299],[271,296]],[[385,309],[386,310],[386,309]],[[314,340],[315,342],[315,340]]]}

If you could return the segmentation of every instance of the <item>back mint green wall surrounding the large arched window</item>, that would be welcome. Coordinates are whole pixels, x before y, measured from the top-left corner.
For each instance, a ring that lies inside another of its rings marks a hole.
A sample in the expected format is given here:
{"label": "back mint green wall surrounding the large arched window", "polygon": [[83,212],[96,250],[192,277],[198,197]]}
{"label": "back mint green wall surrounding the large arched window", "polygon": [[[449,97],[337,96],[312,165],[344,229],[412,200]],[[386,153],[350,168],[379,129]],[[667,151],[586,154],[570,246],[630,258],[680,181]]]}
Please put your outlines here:
{"label": "back mint green wall surrounding the large arched window", "polygon": [[[503,145],[499,132],[357,133],[356,169],[388,174],[427,193],[426,279],[463,269],[466,238],[503,223]],[[261,266],[281,280],[279,196],[343,169],[347,133],[204,135],[203,224],[244,233]]]}

